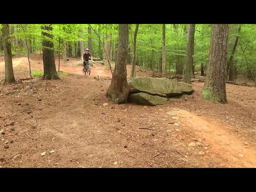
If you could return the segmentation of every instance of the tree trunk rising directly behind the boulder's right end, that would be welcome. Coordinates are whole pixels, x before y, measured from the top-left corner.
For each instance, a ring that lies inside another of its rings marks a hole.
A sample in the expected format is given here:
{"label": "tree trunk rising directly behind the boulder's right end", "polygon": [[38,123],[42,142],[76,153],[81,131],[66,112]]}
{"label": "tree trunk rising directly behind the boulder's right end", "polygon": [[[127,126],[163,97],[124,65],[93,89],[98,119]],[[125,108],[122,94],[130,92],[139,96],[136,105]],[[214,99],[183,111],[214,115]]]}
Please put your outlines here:
{"label": "tree trunk rising directly behind the boulder's right end", "polygon": [[185,65],[185,75],[184,82],[190,83],[190,74],[193,65],[193,55],[194,55],[194,35],[195,35],[196,24],[188,25],[188,46],[187,46],[187,63]]}

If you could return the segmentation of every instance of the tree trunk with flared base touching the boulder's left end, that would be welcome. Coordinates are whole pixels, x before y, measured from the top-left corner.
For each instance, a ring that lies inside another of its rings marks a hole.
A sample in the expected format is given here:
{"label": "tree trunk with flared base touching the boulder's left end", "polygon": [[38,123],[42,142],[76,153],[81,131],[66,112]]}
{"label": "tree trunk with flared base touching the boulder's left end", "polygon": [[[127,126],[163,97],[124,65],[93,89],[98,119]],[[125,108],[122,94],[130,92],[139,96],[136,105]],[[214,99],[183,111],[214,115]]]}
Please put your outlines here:
{"label": "tree trunk with flared base touching the boulder's left end", "polygon": [[114,103],[125,103],[129,94],[127,83],[126,58],[129,42],[128,24],[119,24],[118,60],[115,65],[112,81],[106,96]]}

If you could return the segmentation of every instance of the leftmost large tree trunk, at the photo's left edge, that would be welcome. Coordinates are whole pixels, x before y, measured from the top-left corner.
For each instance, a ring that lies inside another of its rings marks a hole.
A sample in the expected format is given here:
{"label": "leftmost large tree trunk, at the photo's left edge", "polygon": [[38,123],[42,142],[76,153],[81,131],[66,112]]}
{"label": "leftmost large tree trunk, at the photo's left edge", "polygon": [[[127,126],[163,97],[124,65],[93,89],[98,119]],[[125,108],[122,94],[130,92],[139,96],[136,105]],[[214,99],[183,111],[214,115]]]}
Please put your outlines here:
{"label": "leftmost large tree trunk, at the photo's left edge", "polygon": [[13,68],[12,68],[12,51],[9,37],[9,24],[2,24],[2,38],[4,48],[4,67],[5,67],[5,79],[6,83],[15,82]]}

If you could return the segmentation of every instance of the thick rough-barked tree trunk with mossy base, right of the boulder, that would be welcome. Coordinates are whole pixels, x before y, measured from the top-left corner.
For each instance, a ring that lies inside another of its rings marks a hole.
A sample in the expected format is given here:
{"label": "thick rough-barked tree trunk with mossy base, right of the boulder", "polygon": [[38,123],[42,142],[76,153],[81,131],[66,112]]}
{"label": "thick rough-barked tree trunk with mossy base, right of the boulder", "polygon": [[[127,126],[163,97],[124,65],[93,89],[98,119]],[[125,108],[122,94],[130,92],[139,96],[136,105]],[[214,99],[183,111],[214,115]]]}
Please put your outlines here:
{"label": "thick rough-barked tree trunk with mossy base, right of the boulder", "polygon": [[212,24],[210,54],[203,97],[226,103],[228,24]]}

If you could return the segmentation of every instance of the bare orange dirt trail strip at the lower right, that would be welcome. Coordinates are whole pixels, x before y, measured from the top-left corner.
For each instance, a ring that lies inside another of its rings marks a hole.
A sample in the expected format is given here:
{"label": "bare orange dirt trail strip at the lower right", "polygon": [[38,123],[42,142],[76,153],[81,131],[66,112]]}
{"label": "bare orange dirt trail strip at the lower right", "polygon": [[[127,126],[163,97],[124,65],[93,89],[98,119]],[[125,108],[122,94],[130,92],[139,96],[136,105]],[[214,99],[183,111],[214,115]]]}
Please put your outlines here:
{"label": "bare orange dirt trail strip at the lower right", "polygon": [[211,150],[224,159],[231,160],[234,167],[256,168],[256,149],[249,147],[251,144],[248,140],[231,135],[227,132],[227,126],[221,126],[217,122],[211,122],[186,110],[177,110],[174,113],[182,118],[187,126],[195,130],[198,138],[206,140]]}

